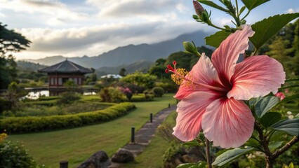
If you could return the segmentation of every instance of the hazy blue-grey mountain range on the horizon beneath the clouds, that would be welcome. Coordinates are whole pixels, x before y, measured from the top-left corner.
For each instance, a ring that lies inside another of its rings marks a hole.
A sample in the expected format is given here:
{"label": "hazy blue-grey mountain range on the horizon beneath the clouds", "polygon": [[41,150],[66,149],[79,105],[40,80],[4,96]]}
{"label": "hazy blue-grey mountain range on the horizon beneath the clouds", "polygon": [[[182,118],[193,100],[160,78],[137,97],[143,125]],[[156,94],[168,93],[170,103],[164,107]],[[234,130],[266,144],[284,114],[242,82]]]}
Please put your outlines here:
{"label": "hazy blue-grey mountain range on the horizon beneath the clouds", "polygon": [[[115,67],[133,64],[142,60],[154,62],[159,58],[166,58],[173,52],[184,50],[182,41],[194,41],[197,46],[204,45],[204,37],[208,36],[203,31],[195,31],[191,34],[182,34],[172,40],[163,41],[160,43],[139,45],[126,45],[115,48],[108,52],[104,52],[96,57],[69,57],[68,59],[74,63],[80,64],[84,67],[93,67],[98,69],[100,67]],[[154,38],[154,37],[153,37]],[[54,56],[43,59],[27,59],[29,62],[53,65],[65,60],[65,57]]]}

